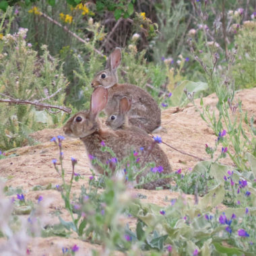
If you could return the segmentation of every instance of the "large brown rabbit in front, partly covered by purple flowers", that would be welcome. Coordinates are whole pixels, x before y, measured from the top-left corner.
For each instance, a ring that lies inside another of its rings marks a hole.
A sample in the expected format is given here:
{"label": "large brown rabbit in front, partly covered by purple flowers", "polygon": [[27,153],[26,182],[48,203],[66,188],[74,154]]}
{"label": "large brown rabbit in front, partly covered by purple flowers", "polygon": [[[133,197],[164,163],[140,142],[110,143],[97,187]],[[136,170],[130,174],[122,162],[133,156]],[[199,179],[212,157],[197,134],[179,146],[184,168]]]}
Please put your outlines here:
{"label": "large brown rabbit in front, partly covered by purple flowers", "polygon": [[[100,162],[106,163],[112,156],[108,152],[100,150],[102,141],[115,152],[117,160],[121,161],[123,158],[131,154],[131,150],[138,152],[139,162],[141,168],[145,162],[155,162],[156,166],[162,172],[168,174],[172,171],[166,154],[161,150],[158,144],[155,144],[148,135],[133,133],[130,131],[110,131],[109,129],[102,129],[100,121],[98,120],[98,113],[106,106],[108,98],[108,90],[99,86],[94,90],[91,97],[90,110],[82,111],[71,117],[63,127],[66,135],[73,135],[79,137],[86,146],[87,154],[94,156]],[[153,146],[154,143],[154,146]],[[152,147],[153,146],[153,147]],[[143,150],[141,150],[143,148]],[[160,167],[162,166],[162,167]],[[113,172],[115,171],[115,164],[110,166]],[[93,168],[100,173],[104,173],[102,167],[98,164]],[[145,170],[145,172],[149,172]],[[143,175],[143,174],[142,174]],[[152,183],[143,185],[144,189],[155,189],[158,186],[168,184],[170,179],[159,179]]]}

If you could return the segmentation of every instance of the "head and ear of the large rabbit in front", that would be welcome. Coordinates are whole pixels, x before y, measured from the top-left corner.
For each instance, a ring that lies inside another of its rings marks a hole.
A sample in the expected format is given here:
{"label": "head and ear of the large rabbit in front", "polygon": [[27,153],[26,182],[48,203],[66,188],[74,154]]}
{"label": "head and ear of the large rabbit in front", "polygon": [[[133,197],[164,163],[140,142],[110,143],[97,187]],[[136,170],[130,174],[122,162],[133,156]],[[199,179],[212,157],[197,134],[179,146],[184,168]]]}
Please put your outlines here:
{"label": "head and ear of the large rabbit in front", "polygon": [[99,86],[91,96],[90,110],[80,111],[71,117],[63,127],[64,133],[83,138],[100,129],[98,114],[106,106],[108,90]]}

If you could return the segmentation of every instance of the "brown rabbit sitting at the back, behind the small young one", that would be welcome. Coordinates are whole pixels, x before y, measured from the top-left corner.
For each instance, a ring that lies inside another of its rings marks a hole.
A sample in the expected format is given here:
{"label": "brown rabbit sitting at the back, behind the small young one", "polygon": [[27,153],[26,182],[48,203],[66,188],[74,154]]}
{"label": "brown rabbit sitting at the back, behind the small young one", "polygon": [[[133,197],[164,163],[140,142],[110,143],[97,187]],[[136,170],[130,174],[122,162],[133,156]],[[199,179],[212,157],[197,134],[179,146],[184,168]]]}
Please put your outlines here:
{"label": "brown rabbit sitting at the back, behind the small young one", "polygon": [[133,84],[118,84],[117,67],[121,63],[121,58],[121,49],[116,48],[108,57],[106,69],[95,75],[92,87],[108,88],[108,102],[104,109],[106,115],[119,110],[119,101],[124,96],[132,98],[129,122],[151,133],[161,125],[161,110],[148,92]]}

